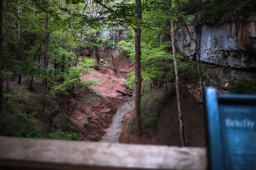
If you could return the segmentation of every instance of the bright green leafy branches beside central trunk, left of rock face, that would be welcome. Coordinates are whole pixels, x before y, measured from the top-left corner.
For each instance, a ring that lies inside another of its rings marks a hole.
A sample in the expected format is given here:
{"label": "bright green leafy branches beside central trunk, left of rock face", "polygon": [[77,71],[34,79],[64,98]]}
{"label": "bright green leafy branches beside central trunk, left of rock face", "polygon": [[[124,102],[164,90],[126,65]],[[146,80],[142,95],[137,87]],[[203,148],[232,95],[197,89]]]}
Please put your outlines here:
{"label": "bright green leafy branches beside central trunk, left of rock face", "polygon": [[[121,54],[126,54],[134,60],[134,47],[130,43],[121,41],[119,45],[123,51]],[[155,82],[164,84],[166,82],[175,81],[173,56],[170,51],[170,42],[158,44],[152,47],[149,44],[141,44],[141,73],[143,83]],[[188,60],[180,54],[177,54],[178,70],[180,81],[191,83],[198,79],[197,64],[195,62],[188,62]],[[135,75],[131,72],[130,75]],[[127,84],[135,84],[135,77],[127,79]]]}

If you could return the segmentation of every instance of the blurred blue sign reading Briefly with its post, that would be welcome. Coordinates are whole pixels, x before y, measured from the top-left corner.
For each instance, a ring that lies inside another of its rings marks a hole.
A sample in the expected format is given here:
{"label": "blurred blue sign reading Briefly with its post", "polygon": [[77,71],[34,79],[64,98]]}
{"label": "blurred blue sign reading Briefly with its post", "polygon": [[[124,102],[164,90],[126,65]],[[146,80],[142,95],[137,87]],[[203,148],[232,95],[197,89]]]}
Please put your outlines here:
{"label": "blurred blue sign reading Briefly with its post", "polygon": [[256,96],[206,88],[209,169],[256,169]]}

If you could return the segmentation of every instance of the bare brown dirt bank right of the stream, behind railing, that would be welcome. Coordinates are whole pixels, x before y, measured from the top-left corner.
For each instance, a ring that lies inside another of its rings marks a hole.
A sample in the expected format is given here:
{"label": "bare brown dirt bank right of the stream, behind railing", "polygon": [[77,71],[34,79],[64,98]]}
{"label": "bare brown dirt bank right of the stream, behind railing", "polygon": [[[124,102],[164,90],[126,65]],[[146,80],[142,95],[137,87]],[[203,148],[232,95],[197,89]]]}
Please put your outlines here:
{"label": "bare brown dirt bank right of the stream, behind railing", "polygon": [[[197,103],[195,98],[186,90],[181,95],[181,107],[183,113],[183,125],[185,130],[186,146],[201,146],[205,142],[205,121],[203,105]],[[153,89],[153,96],[163,94],[163,89]],[[139,143],[150,145],[181,146],[177,99],[174,94],[167,97],[162,105],[161,114],[158,117],[158,130],[151,138],[146,134],[137,137],[130,134],[131,118],[135,115],[133,108],[123,118],[123,132],[119,138],[121,143]]]}

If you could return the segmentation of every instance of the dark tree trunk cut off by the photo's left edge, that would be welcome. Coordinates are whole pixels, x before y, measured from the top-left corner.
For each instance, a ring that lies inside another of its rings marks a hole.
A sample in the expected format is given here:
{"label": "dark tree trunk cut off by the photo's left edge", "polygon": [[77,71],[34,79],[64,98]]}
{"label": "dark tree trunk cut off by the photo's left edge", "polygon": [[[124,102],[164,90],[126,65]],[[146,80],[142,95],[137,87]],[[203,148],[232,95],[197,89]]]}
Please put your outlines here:
{"label": "dark tree trunk cut off by the photo's left edge", "polygon": [[[0,37],[2,38],[3,28],[3,1],[0,0]],[[0,41],[0,134],[2,133],[3,120],[3,77],[2,77],[2,41]]]}

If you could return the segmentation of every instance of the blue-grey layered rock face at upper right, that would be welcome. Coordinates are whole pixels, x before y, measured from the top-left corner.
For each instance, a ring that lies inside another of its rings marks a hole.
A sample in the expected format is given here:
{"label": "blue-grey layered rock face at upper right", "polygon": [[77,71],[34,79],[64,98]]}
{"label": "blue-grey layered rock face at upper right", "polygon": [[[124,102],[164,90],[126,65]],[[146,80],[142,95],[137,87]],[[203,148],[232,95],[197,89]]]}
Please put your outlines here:
{"label": "blue-grey layered rock face at upper right", "polygon": [[[195,15],[189,18],[195,20]],[[177,23],[175,36],[177,48],[195,60],[196,47],[185,28]],[[223,23],[218,26],[189,25],[201,51],[201,61],[235,68],[256,67],[256,13],[241,21]]]}

